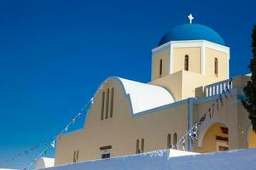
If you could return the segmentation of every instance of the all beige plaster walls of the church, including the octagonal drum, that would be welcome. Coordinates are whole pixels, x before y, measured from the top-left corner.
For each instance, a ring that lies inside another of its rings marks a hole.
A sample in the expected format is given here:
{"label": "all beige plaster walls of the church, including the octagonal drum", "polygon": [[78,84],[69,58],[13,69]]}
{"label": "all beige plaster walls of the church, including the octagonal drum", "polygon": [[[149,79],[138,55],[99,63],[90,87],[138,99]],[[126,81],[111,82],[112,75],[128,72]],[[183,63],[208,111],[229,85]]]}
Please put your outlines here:
{"label": "all beige plaster walls of the church, including the octagonal drum", "polygon": [[[177,139],[180,139],[184,133],[187,133],[189,126],[188,98],[201,96],[202,99],[201,102],[193,104],[194,117],[191,122],[193,124],[215,101],[214,97],[209,99],[202,95],[204,94],[203,86],[229,77],[228,54],[212,48],[205,49],[205,74],[201,74],[201,50],[201,48],[173,48],[172,61],[170,61],[170,48],[153,55],[153,81],[148,83],[166,88],[175,101],[179,101],[176,104],[155,108],[154,111],[135,116],[131,114],[129,95],[124,93],[120,82],[115,79],[103,82],[86,116],[84,128],[67,133],[57,141],[55,165],[73,162],[74,150],[79,150],[79,161],[86,161],[99,159],[102,146],[112,146],[111,156],[125,156],[136,153],[137,139],[144,139],[144,151],[166,149],[168,133],[172,134],[172,140],[173,133],[177,133]],[[189,54],[189,71],[184,71],[183,68],[185,54]],[[218,77],[214,74],[215,57],[218,58]],[[159,75],[160,59],[163,59],[162,77]],[[173,73],[170,75],[171,62],[173,62]],[[242,88],[247,82],[246,79],[236,78],[233,87]],[[108,88],[114,88],[113,117],[101,120],[102,92],[107,91]],[[196,95],[195,89],[201,95]],[[216,149],[213,139],[216,135],[223,135],[218,131],[220,124],[225,124],[229,128],[230,149],[246,148],[252,145],[248,144],[246,136],[249,125],[247,111],[243,109],[238,95],[234,95],[232,99],[224,99],[224,106],[220,111],[215,109],[214,119],[210,120],[207,116],[206,121],[199,128],[202,146],[195,141],[193,150],[207,152]],[[188,147],[188,141],[187,139],[186,147]]]}

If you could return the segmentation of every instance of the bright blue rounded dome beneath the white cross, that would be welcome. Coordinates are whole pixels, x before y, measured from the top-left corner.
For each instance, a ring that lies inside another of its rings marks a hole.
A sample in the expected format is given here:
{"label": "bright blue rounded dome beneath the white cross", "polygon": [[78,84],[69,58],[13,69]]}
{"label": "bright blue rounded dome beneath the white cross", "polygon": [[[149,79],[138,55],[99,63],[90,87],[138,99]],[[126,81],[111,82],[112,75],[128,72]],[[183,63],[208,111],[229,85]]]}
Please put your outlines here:
{"label": "bright blue rounded dome beneath the white cross", "polygon": [[185,24],[176,26],[171,31],[161,38],[158,46],[170,41],[183,41],[183,40],[207,40],[209,42],[225,45],[222,37],[212,28],[202,26],[199,24]]}

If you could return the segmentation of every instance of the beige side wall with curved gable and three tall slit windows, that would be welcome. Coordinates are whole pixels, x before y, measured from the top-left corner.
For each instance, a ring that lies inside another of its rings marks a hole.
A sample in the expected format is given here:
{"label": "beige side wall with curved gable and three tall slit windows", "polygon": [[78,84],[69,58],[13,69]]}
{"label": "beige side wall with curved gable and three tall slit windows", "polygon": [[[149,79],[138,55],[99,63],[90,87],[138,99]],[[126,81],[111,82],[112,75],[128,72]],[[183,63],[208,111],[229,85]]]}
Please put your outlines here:
{"label": "beige side wall with curved gable and three tall slit windows", "polygon": [[[113,117],[101,121],[102,90],[114,88]],[[168,133],[177,139],[188,131],[188,105],[131,116],[130,104],[118,82],[105,82],[94,98],[84,129],[64,135],[57,143],[55,165],[73,161],[73,151],[79,150],[79,160],[99,159],[100,147],[112,145],[111,156],[136,153],[137,139],[144,139],[145,151],[167,148]],[[177,122],[179,122],[177,124]]]}

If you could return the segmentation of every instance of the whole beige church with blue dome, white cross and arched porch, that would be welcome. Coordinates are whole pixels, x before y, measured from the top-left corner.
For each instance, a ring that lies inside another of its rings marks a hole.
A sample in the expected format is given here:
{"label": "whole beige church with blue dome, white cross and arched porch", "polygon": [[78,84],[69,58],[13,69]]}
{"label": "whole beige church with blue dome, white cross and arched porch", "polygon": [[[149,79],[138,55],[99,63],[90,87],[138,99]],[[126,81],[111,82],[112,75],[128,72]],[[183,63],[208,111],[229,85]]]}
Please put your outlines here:
{"label": "whole beige church with blue dome, white cross and arched porch", "polygon": [[[250,75],[230,77],[223,38],[192,23],[192,15],[189,20],[152,49],[151,82],[102,82],[84,127],[57,141],[55,166],[170,148],[205,153],[256,147],[241,105]],[[185,135],[199,119],[196,139]]]}

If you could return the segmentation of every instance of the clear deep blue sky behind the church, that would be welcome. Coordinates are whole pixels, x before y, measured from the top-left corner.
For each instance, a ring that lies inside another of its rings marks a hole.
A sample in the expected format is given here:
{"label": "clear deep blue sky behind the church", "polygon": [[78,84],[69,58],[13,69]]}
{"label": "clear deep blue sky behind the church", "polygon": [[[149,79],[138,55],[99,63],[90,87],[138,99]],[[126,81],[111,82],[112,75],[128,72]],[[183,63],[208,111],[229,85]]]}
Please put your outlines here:
{"label": "clear deep blue sky behind the church", "polygon": [[230,46],[230,75],[246,74],[255,6],[253,0],[1,1],[0,167],[32,161],[43,147],[3,160],[54,136],[107,77],[149,82],[151,49],[168,29],[188,23],[190,13]]}

